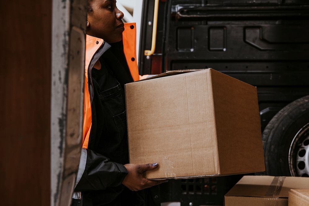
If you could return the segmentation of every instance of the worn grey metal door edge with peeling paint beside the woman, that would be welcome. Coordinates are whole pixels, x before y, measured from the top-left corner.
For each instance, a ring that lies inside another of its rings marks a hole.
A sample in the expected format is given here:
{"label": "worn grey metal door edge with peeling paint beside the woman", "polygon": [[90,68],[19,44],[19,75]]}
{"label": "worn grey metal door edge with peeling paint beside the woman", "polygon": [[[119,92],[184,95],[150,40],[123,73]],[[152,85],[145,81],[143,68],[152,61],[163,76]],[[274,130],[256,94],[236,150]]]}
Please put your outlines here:
{"label": "worn grey metal door edge with peeling paint beside the woman", "polygon": [[53,0],[52,206],[70,205],[78,169],[83,122],[86,16],[87,1]]}

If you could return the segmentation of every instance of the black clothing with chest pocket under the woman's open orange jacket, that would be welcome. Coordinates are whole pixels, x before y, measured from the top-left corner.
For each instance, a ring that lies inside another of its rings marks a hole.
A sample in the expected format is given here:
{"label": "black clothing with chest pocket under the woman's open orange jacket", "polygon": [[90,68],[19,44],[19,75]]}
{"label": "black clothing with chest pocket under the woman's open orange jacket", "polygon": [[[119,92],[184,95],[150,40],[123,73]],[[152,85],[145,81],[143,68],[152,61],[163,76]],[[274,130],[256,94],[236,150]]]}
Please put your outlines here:
{"label": "black clothing with chest pocket under the woman's open orange jacket", "polygon": [[[121,85],[114,75],[114,65],[112,62],[108,62],[111,59],[104,60],[103,57],[106,54],[108,53],[104,53],[99,60],[101,69],[93,68],[91,70],[97,124],[95,131],[97,144],[95,144],[94,150],[112,162],[125,165],[129,163],[129,152],[124,84]],[[112,55],[112,53],[109,54]],[[125,191],[123,191],[124,189]],[[121,184],[116,187],[108,187],[104,191],[93,191],[91,195],[93,205],[120,206],[125,205],[121,204],[124,196],[133,198],[134,195],[128,195],[130,193]],[[136,197],[133,200],[138,201]]]}

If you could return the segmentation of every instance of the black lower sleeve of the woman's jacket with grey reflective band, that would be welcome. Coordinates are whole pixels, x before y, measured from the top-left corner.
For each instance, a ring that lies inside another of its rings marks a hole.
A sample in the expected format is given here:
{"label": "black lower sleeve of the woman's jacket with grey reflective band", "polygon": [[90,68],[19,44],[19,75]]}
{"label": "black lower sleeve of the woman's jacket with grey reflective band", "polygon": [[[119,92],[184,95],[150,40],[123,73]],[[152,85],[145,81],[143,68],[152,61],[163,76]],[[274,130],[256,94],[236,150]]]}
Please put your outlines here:
{"label": "black lower sleeve of the woman's jacket with grey reflective band", "polygon": [[121,185],[128,171],[91,149],[82,148],[74,191],[104,190]]}

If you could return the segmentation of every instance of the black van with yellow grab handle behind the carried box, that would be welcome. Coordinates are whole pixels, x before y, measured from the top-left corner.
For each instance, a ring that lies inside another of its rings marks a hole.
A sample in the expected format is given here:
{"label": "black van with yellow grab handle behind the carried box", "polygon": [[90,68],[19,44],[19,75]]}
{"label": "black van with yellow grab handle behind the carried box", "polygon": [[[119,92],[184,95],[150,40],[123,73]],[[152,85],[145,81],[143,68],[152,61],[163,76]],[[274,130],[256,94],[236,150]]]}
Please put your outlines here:
{"label": "black van with yellow grab handle behind the carried box", "polygon": [[[265,174],[309,176],[309,1],[144,0],[140,74],[193,68],[256,86]],[[170,181],[161,201],[222,205],[240,177]]]}

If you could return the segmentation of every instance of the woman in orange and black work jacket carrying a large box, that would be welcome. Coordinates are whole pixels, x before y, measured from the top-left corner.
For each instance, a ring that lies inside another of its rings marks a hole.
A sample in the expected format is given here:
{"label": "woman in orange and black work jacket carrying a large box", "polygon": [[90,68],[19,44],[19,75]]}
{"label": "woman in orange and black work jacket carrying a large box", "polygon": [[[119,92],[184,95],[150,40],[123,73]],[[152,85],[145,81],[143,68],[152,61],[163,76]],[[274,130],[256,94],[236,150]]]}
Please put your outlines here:
{"label": "woman in orange and black work jacket carrying a large box", "polygon": [[163,183],[128,164],[126,83],[139,80],[135,24],[122,23],[115,0],[88,0],[83,149],[72,205],[150,205],[139,191]]}

